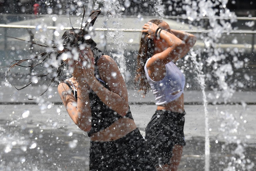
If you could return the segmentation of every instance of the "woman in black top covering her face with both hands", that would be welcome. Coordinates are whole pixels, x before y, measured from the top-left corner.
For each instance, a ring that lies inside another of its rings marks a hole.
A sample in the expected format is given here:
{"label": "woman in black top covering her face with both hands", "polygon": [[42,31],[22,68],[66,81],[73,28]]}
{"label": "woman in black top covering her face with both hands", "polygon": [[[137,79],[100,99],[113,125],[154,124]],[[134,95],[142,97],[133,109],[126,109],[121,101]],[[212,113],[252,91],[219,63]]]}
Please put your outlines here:
{"label": "woman in black top covering her face with both hands", "polygon": [[91,139],[90,170],[155,170],[116,62],[85,40],[82,29],[67,30],[62,39],[72,77],[60,82],[58,92],[71,119]]}

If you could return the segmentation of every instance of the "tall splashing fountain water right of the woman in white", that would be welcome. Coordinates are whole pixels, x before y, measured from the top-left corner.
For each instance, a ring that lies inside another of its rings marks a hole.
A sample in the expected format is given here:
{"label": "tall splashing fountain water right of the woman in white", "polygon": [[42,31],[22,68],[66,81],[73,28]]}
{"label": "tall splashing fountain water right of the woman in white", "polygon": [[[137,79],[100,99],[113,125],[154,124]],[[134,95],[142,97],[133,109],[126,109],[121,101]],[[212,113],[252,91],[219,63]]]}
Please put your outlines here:
{"label": "tall splashing fountain water right of the woman in white", "polygon": [[[209,129],[208,129],[208,110],[207,110],[207,100],[205,94],[205,76],[202,72],[202,66],[206,65],[207,67],[213,66],[214,76],[217,78],[218,88],[215,88],[214,91],[221,91],[221,95],[224,99],[224,103],[226,103],[229,99],[232,98],[233,93],[235,92],[233,85],[228,85],[227,79],[228,76],[233,75],[233,68],[230,63],[220,63],[220,61],[224,61],[226,56],[222,54],[222,49],[217,47],[219,43],[219,38],[222,37],[224,32],[230,32],[233,28],[231,23],[235,22],[235,14],[230,12],[226,8],[227,0],[219,0],[219,1],[199,1],[198,7],[194,5],[192,1],[185,1],[186,3],[186,18],[189,21],[195,20],[198,16],[207,16],[209,21],[209,27],[212,29],[211,32],[204,36],[204,44],[205,49],[201,49],[202,51],[207,52],[206,63],[198,63],[196,61],[196,54],[191,53],[191,59],[195,64],[195,72],[197,74],[197,80],[200,83],[202,93],[203,93],[203,101],[204,101],[204,111],[205,111],[205,171],[210,169],[210,144],[209,144]],[[214,7],[219,6],[219,3],[222,4],[222,9],[220,11],[214,10]],[[197,14],[195,11],[199,11]],[[219,13],[220,19],[217,20],[217,12]],[[229,22],[227,21],[229,20]],[[234,40],[233,40],[234,42]],[[201,65],[202,64],[202,65]],[[238,66],[239,67],[239,66]],[[217,113],[218,116],[222,118],[220,130],[223,131],[223,136],[226,139],[226,144],[233,143],[232,134],[237,133],[236,130],[239,127],[238,122],[235,121],[232,114],[228,114],[228,111],[222,111]],[[231,132],[230,132],[231,131]],[[232,132],[235,131],[235,132]],[[244,146],[241,144],[241,140],[236,141],[237,148],[233,150],[234,155],[238,155],[239,157],[231,157],[227,162],[227,168],[225,171],[235,171],[237,168],[245,168],[246,163],[249,165],[247,167],[248,170],[252,167],[253,163],[245,159],[244,155]],[[228,149],[227,149],[228,150]],[[231,150],[232,151],[232,150]]]}

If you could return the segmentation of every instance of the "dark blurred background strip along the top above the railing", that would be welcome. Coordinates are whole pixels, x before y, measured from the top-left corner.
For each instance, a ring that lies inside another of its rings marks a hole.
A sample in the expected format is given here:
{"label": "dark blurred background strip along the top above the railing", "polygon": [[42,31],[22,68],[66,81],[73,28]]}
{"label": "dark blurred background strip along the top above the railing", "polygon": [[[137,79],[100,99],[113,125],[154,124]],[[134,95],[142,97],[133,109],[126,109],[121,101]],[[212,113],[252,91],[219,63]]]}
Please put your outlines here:
{"label": "dark blurred background strip along the top above the railing", "polygon": [[[184,14],[186,11],[183,8],[183,0],[162,0],[159,4],[157,0],[118,0],[120,6],[124,7],[124,15],[155,15],[152,13],[156,4],[162,6],[163,15],[177,16]],[[215,0],[212,0],[216,2]],[[102,7],[104,1],[83,1],[84,5],[90,4],[92,6]],[[198,3],[197,0],[191,2]],[[34,6],[38,4],[39,14],[65,14],[74,11],[70,7],[75,6],[77,1],[70,0],[0,0],[0,13],[9,14],[33,14]],[[221,4],[216,4],[216,9],[219,9]],[[226,7],[236,13],[237,16],[254,17],[256,16],[256,1],[253,0],[229,0]],[[67,11],[69,10],[69,11]]]}

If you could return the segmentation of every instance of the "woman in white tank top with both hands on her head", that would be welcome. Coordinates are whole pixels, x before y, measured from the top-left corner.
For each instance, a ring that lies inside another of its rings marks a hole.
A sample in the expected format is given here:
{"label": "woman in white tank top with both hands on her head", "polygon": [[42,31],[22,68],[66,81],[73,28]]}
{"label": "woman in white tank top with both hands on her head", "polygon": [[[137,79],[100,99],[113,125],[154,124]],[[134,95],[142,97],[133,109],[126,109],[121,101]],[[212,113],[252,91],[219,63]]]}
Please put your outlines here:
{"label": "woman in white tank top with both hands on her head", "polygon": [[146,142],[157,170],[176,171],[184,138],[185,77],[174,64],[194,46],[193,34],[171,29],[163,20],[143,25],[135,81],[145,95],[151,88],[157,110],[148,123]]}

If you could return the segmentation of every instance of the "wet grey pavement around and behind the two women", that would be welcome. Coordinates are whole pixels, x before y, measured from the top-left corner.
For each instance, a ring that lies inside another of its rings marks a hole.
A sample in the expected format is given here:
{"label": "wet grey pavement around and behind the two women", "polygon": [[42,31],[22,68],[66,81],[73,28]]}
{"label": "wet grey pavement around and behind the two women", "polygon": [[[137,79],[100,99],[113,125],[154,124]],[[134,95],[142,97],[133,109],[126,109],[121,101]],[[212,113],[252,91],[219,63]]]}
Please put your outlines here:
{"label": "wet grey pavement around and behind the two women", "polygon": [[[256,170],[252,164],[256,163],[256,105],[252,104],[253,94],[238,93],[226,105],[208,105],[208,114],[205,115],[204,105],[200,104],[201,94],[185,92],[187,114],[184,133],[187,145],[184,146],[179,170],[205,170],[206,116],[209,118],[210,170]],[[87,133],[72,122],[59,97],[50,98],[50,103],[39,103],[40,100],[27,101],[21,95],[18,96],[16,91],[1,92],[0,170],[89,170]],[[150,98],[140,99],[129,91],[130,108],[143,136],[155,111],[155,105],[150,105],[153,103]],[[135,104],[138,101],[141,103]],[[192,102],[194,105],[190,104]]]}

